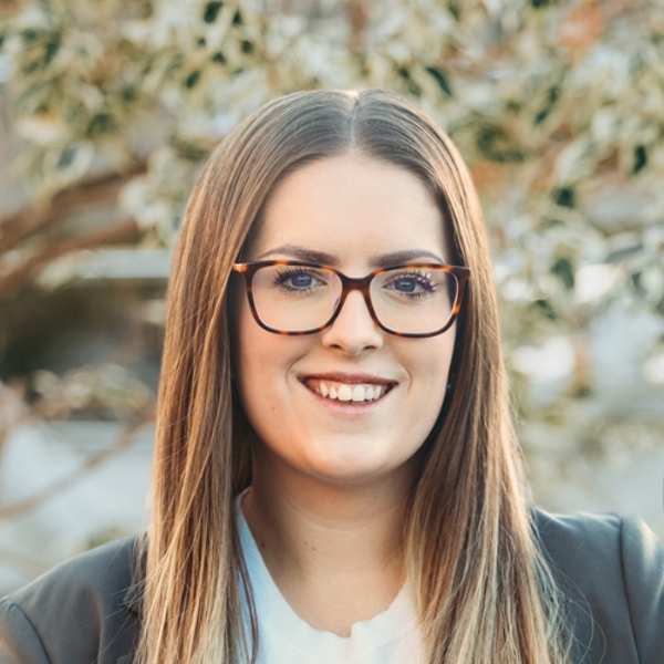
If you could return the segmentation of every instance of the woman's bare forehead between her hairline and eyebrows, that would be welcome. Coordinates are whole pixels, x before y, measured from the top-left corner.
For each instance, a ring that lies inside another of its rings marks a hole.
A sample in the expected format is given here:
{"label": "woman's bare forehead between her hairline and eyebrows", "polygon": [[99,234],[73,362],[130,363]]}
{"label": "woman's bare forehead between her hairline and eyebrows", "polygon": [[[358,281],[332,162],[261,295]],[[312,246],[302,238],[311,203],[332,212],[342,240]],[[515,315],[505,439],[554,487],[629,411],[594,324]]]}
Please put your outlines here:
{"label": "woman's bare forehead between her hairline and eyebrows", "polygon": [[428,251],[448,260],[445,220],[426,184],[409,170],[352,155],[289,174],[270,196],[250,260],[297,246],[338,264],[365,266],[388,253]]}

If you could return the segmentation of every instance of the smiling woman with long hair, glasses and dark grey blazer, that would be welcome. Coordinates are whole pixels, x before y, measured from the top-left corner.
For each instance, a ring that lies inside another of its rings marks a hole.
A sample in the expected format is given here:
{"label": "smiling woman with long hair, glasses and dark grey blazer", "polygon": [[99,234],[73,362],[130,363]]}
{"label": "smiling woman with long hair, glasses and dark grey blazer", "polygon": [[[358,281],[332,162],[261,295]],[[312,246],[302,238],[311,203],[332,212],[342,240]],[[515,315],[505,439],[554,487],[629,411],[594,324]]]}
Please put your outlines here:
{"label": "smiling woman with long hair, glasses and dark grey blazer", "polygon": [[4,600],[3,664],[664,661],[650,531],[529,508],[477,196],[402,97],[237,127],[166,332],[148,537]]}

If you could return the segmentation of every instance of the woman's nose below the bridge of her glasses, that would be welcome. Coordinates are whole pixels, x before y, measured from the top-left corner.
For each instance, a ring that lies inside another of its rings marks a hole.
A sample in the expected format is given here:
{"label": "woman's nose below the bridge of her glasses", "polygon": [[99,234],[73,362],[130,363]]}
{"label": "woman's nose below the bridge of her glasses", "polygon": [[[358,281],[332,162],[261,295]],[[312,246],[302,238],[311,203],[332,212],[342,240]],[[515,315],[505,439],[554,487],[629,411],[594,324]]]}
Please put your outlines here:
{"label": "woman's nose below the bridge of her glasses", "polygon": [[321,333],[323,345],[355,357],[383,345],[384,333],[369,312],[361,291],[351,291],[334,322]]}

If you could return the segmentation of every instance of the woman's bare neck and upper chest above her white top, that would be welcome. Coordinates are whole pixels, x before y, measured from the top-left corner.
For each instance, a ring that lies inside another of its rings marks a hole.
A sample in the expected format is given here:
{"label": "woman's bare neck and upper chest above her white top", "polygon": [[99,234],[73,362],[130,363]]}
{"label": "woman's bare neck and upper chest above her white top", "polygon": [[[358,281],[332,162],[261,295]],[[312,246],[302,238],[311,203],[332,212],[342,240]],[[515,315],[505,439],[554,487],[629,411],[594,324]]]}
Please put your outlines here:
{"label": "woman's bare neck and upper chest above her white top", "polygon": [[346,635],[392,603],[405,579],[409,488],[404,473],[338,485],[255,458],[245,517],[281,593],[312,626]]}

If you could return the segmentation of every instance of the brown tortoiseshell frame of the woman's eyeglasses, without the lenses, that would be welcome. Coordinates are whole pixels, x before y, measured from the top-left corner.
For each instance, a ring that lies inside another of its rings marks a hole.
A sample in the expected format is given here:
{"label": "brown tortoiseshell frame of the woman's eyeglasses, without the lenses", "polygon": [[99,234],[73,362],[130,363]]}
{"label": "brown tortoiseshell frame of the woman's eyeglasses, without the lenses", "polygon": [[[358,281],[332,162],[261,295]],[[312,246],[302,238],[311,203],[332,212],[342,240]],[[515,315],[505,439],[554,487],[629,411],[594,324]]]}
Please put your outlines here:
{"label": "brown tortoiseshell frame of the woman's eyeglasses, without the lenses", "polygon": [[[339,298],[339,303],[336,304],[334,312],[332,313],[331,318],[328,320],[328,322],[324,325],[320,325],[319,328],[312,328],[311,330],[299,330],[297,332],[287,332],[284,330],[277,330],[274,328],[270,328],[269,325],[266,325],[266,323],[263,321],[260,320],[260,317],[258,315],[258,311],[256,310],[256,304],[253,302],[253,286],[252,286],[253,276],[261,268],[273,267],[273,266],[322,269],[322,270],[328,270],[329,272],[333,272],[334,274],[336,274],[339,277],[339,279],[341,280],[341,286],[342,286],[341,297]],[[372,280],[375,277],[377,277],[378,274],[383,274],[384,272],[388,272],[391,270],[397,270],[397,269],[400,269],[400,270],[403,270],[403,269],[422,270],[423,268],[440,270],[443,272],[454,274],[454,277],[456,278],[458,288],[457,288],[457,292],[456,292],[456,300],[453,304],[452,314],[449,317],[449,320],[447,321],[447,323],[445,323],[445,325],[443,328],[440,328],[439,330],[435,330],[434,332],[424,332],[424,333],[397,332],[395,330],[387,328],[378,320],[378,317],[376,315],[376,312],[374,311],[374,308],[373,308],[373,303],[371,301],[370,289],[371,289]],[[249,300],[249,308],[251,309],[253,320],[263,330],[267,330],[268,332],[272,332],[274,334],[281,334],[283,336],[302,336],[304,334],[315,334],[317,332],[322,332],[323,330],[329,328],[336,320],[336,317],[341,312],[341,308],[343,307],[343,303],[345,302],[347,294],[352,290],[359,290],[362,293],[362,295],[364,298],[364,302],[366,303],[366,309],[369,309],[369,313],[370,313],[373,322],[378,328],[381,328],[381,330],[384,330],[385,332],[388,332],[390,334],[394,334],[395,336],[406,336],[406,338],[413,338],[413,339],[421,339],[421,338],[425,338],[425,336],[436,336],[438,334],[443,334],[443,332],[445,332],[446,330],[449,330],[449,328],[452,326],[452,324],[458,317],[458,314],[461,310],[461,303],[464,301],[464,293],[466,291],[466,282],[468,281],[468,279],[470,277],[470,268],[464,268],[460,266],[445,266],[445,264],[439,264],[439,263],[404,263],[404,264],[398,264],[398,266],[390,266],[388,268],[380,268],[377,270],[374,270],[373,272],[370,272],[369,274],[366,274],[366,277],[359,277],[356,279],[353,279],[352,277],[346,277],[343,272],[340,272],[339,270],[335,270],[334,268],[331,268],[329,266],[302,262],[299,260],[261,260],[261,261],[257,261],[257,262],[237,262],[237,263],[234,263],[232,269],[235,272],[239,272],[240,274],[245,276],[245,286],[247,287],[247,299]]]}

